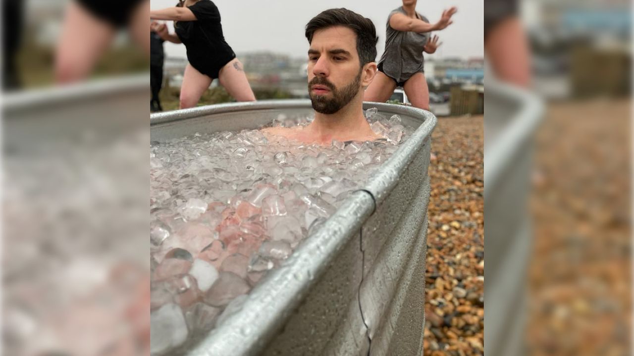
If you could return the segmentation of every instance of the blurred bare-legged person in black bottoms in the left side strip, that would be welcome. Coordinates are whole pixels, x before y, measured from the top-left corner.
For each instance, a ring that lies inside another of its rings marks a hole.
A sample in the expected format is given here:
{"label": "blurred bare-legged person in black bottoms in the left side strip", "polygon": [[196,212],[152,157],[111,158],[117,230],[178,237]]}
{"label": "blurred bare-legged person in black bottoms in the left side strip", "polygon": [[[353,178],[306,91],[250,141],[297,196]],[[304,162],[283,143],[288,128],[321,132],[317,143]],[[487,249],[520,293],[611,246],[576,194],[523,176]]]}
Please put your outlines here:
{"label": "blurred bare-legged person in black bottoms in the left side strip", "polygon": [[55,53],[55,82],[86,79],[119,29],[127,27],[146,53],[150,0],[72,0],[68,3]]}

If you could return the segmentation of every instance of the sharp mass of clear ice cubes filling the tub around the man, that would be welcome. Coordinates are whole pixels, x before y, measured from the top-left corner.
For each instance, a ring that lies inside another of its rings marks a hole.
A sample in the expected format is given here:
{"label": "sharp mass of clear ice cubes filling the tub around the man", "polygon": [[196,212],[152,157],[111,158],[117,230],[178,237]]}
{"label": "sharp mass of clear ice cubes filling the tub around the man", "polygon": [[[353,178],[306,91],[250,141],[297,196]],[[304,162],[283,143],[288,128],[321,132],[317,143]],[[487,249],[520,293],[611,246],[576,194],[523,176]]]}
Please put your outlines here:
{"label": "sharp mass of clear ice cubes filling the tub around the man", "polygon": [[153,355],[186,348],[240,308],[412,132],[376,108],[366,118],[384,139],[320,146],[243,130],[151,144]]}

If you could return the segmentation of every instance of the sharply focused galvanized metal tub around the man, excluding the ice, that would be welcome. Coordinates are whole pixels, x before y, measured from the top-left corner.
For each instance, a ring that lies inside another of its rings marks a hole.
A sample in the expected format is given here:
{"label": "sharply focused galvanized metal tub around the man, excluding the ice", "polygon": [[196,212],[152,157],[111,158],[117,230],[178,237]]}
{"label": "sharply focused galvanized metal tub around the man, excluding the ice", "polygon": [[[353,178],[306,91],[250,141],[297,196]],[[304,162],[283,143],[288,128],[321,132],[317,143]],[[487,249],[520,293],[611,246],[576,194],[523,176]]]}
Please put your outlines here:
{"label": "sharply focused galvanized metal tub around the man, excluding the ice", "polygon": [[[430,138],[437,119],[408,106],[364,103],[400,115],[415,133],[355,191],[242,308],[187,355],[421,355]],[[195,132],[256,129],[309,100],[204,106],[150,118],[153,141]]]}

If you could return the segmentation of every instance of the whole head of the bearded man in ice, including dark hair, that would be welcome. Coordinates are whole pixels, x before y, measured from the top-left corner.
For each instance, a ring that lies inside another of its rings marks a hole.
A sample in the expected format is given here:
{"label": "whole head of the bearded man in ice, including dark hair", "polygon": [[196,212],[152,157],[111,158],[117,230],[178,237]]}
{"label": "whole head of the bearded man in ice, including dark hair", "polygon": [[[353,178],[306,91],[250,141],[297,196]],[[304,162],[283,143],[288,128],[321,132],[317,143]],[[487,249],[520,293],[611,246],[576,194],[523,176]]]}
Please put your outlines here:
{"label": "whole head of the bearded man in ice, including dark hair", "polygon": [[332,114],[363,96],[376,74],[377,32],[368,18],[330,9],[306,25],[308,90],[315,111]]}

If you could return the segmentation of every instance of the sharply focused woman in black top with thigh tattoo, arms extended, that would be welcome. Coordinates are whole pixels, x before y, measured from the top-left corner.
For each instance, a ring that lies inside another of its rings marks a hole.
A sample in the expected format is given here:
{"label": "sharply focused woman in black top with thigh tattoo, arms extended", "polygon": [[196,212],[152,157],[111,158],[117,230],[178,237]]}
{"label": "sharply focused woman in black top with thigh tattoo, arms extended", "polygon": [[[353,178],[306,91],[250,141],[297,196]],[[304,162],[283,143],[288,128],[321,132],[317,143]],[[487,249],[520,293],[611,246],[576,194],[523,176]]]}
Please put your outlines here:
{"label": "sharply focused woman in black top with thigh tattoo, arms extended", "polygon": [[255,101],[242,63],[224,41],[220,12],[210,0],[180,1],[173,8],[150,11],[152,20],[174,20],[176,34],[170,34],[165,24],[153,29],[165,41],[183,43],[187,60],[181,108],[196,106],[200,96],[218,79],[221,86],[237,101]]}

